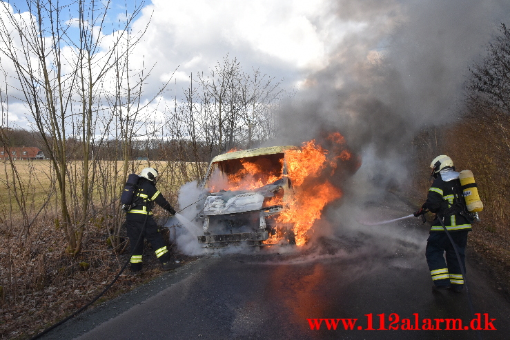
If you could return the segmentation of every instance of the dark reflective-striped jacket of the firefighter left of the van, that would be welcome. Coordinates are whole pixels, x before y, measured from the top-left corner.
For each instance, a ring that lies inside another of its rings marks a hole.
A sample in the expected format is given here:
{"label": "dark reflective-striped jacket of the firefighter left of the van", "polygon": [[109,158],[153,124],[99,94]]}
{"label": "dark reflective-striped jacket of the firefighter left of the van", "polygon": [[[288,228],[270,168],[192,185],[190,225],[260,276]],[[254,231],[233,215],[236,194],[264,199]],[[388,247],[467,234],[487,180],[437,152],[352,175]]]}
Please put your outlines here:
{"label": "dark reflective-striped jacket of the firefighter left of the van", "polygon": [[170,214],[175,214],[175,210],[166,201],[161,192],[156,189],[153,181],[149,181],[141,177],[138,181],[138,188],[135,192],[133,207],[128,210],[126,219],[145,219],[145,215],[152,215],[154,202],[156,202],[164,210],[168,210]]}

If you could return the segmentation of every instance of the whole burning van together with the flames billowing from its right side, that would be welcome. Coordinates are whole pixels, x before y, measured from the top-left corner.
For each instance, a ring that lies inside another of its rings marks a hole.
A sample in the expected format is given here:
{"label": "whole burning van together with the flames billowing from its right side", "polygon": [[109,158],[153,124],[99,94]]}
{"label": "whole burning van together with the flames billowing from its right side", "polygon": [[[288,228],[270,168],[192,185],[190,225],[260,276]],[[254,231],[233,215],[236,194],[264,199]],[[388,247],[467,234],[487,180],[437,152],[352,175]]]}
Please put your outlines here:
{"label": "whole burning van together with the flames billowing from its right side", "polygon": [[360,163],[335,132],[324,143],[273,146],[220,154],[210,162],[197,218],[208,248],[303,246],[324,207],[342,197],[338,184]]}

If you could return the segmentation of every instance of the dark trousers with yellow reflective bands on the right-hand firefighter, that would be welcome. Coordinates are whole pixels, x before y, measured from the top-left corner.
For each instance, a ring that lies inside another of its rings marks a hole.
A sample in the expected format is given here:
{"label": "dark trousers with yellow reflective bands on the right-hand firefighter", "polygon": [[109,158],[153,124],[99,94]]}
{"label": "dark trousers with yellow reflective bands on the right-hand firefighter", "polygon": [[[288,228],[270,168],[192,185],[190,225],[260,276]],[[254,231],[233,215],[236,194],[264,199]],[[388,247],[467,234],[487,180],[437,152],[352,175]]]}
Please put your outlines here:
{"label": "dark trousers with yellow reflective bands on the right-hand firefighter", "polygon": [[[457,246],[461,263],[459,263],[455,250],[446,232],[431,232],[426,243],[426,263],[429,264],[432,281],[435,286],[449,286],[456,288],[464,286],[464,277],[460,266],[466,272],[465,253],[467,245],[467,230],[450,232],[453,242]],[[446,262],[444,261],[446,253]]]}

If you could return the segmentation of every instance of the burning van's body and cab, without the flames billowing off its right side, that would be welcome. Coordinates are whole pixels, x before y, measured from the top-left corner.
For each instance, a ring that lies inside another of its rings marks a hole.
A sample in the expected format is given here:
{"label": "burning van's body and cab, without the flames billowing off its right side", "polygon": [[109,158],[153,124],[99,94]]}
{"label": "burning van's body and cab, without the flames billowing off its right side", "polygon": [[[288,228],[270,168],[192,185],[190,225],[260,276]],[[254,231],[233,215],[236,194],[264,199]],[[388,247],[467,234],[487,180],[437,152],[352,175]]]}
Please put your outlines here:
{"label": "burning van's body and cab, without the flames billowing off its right side", "polygon": [[[199,218],[208,247],[228,244],[262,245],[277,232],[275,217],[291,201],[286,151],[295,146],[274,146],[220,154],[210,162],[204,189],[208,191]],[[295,243],[292,226],[285,227],[288,243]]]}

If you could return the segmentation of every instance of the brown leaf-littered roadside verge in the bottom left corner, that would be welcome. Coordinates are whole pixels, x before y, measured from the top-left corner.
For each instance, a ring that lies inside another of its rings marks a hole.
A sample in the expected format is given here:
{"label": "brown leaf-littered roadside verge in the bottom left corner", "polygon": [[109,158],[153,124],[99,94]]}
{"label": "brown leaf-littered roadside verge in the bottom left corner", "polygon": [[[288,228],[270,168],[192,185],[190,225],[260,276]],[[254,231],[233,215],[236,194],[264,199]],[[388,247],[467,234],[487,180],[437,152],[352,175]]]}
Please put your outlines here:
{"label": "brown leaf-littered roadside verge in the bottom left corner", "polygon": [[[118,254],[107,245],[107,226],[89,226],[86,247],[76,257],[65,252],[65,231],[56,230],[51,219],[37,221],[23,239],[17,237],[16,228],[8,233],[4,227],[0,229],[0,339],[26,339],[81,308],[112,281],[129,258],[129,252]],[[173,259],[186,260],[175,253]],[[125,272],[104,299],[159,274],[159,262],[146,245],[143,274]]]}

